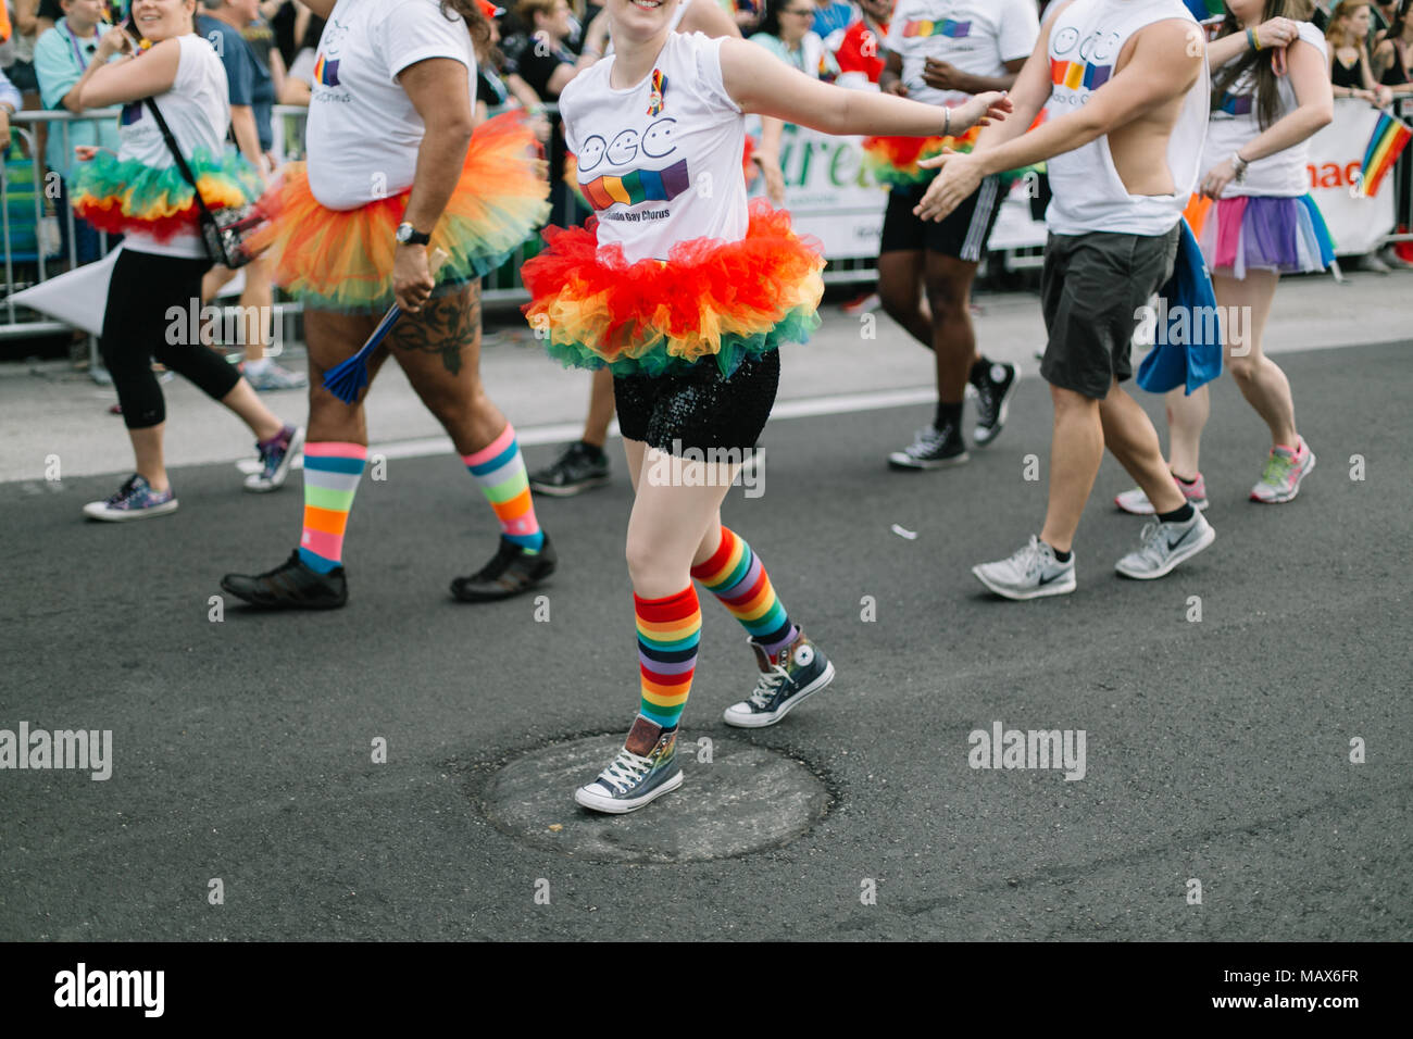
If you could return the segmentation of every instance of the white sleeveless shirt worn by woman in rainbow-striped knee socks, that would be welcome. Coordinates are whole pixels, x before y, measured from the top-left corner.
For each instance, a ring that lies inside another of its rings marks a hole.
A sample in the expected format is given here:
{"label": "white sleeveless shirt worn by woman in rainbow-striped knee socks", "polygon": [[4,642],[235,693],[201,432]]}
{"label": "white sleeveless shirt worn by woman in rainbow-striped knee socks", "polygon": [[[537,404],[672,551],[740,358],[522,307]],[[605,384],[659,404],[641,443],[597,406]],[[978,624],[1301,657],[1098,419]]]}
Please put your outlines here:
{"label": "white sleeveless shirt worn by woman in rainbow-striped knee socks", "polygon": [[609,85],[615,58],[569,81],[560,96],[564,136],[599,247],[629,263],[666,260],[691,239],[746,236],[745,117],[721,78],[721,40],[670,33],[639,83]]}

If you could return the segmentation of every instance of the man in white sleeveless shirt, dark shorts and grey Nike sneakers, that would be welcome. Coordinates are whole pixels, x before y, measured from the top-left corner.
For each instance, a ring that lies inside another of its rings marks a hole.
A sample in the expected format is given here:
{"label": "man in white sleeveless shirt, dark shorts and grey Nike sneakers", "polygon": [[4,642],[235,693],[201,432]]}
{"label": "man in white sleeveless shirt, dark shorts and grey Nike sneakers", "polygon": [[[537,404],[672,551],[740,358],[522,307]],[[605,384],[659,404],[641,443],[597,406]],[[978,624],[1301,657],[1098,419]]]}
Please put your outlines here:
{"label": "man in white sleeveless shirt, dark shorts and grey Nike sneakers", "polygon": [[[1143,308],[1173,274],[1208,90],[1205,40],[1181,0],[1057,3],[1016,79],[1015,115],[985,129],[969,155],[933,160],[941,171],[918,205],[926,219],[941,219],[1002,170],[1048,161],[1054,189],[1040,366],[1056,407],[1050,500],[1039,537],[972,568],[998,595],[1074,591],[1074,536],[1105,447],[1159,495],[1150,498],[1157,522],[1118,561],[1119,574],[1163,577],[1215,537],[1169,475],[1153,423],[1121,386],[1133,375]],[[1046,122],[1023,134],[1041,107]]]}

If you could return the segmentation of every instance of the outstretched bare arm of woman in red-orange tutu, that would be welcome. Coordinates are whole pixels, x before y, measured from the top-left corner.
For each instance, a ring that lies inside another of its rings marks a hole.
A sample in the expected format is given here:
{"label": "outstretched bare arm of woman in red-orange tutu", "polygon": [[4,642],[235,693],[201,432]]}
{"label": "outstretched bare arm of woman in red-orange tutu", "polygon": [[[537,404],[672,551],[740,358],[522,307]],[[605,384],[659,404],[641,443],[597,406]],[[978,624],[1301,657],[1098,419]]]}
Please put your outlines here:
{"label": "outstretched bare arm of woman in red-orange tutu", "polygon": [[721,74],[726,93],[743,112],[774,116],[831,134],[934,137],[961,133],[988,119],[1005,119],[1010,102],[1000,93],[976,95],[955,109],[904,98],[848,90],[793,69],[745,40],[723,40]]}

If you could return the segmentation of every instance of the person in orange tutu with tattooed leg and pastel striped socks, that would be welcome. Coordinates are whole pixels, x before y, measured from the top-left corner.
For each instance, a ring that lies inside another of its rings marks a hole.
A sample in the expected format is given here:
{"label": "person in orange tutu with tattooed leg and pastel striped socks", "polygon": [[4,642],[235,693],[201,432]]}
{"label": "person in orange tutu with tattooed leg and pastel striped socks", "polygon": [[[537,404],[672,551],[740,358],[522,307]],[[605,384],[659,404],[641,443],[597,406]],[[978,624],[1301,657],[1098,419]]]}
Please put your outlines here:
{"label": "person in orange tutu with tattooed leg and pastel striped socks", "polygon": [[[315,0],[328,24],[309,100],[307,164],[288,167],[259,239],[274,280],[304,301],[309,437],[304,529],[284,564],[227,574],[222,588],[266,609],[329,609],[348,599],[343,534],[367,459],[366,387],[345,403],[324,373],[349,360],[397,303],[403,317],[367,358],[391,353],[500,526],[495,557],[452,581],[463,602],[503,599],[544,581],[555,554],[540,529],[514,428],[480,385],[479,278],[548,212],[544,163],[527,124],[473,129],[476,0]],[[445,263],[432,267],[441,252]]]}

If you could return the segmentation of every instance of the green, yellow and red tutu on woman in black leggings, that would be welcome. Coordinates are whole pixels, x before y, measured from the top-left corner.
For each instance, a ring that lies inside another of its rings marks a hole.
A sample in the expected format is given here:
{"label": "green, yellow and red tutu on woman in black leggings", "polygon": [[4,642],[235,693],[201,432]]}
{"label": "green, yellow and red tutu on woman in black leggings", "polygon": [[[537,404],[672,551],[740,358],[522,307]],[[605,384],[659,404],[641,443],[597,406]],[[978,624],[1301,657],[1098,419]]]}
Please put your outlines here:
{"label": "green, yellow and red tutu on woman in black leggings", "polygon": [[[242,206],[260,196],[260,177],[239,153],[219,157],[198,148],[188,160],[209,209]],[[165,242],[196,230],[196,192],[175,165],[154,168],[99,151],[79,164],[73,212],[110,235],[143,232]]]}

